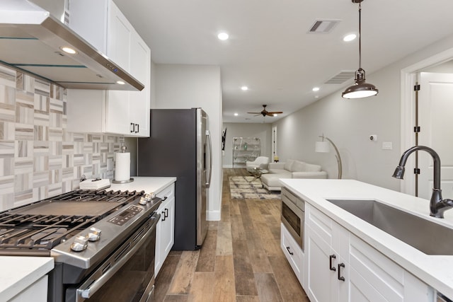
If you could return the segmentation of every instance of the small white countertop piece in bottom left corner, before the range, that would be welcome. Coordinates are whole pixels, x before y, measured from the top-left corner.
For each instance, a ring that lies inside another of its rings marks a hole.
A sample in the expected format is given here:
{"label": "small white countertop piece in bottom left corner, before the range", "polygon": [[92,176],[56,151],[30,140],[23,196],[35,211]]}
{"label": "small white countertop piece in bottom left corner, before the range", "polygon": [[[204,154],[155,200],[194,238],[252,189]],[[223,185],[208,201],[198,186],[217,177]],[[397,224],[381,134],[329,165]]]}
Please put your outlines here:
{"label": "small white countertop piece in bottom left corner, before the range", "polygon": [[0,300],[8,301],[54,268],[52,257],[0,257]]}

